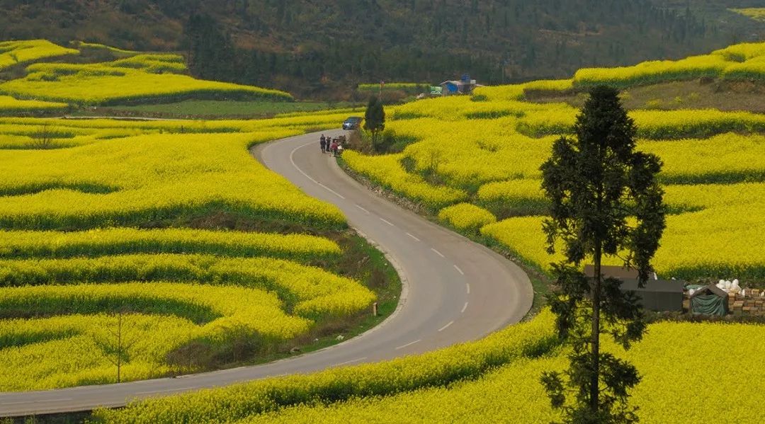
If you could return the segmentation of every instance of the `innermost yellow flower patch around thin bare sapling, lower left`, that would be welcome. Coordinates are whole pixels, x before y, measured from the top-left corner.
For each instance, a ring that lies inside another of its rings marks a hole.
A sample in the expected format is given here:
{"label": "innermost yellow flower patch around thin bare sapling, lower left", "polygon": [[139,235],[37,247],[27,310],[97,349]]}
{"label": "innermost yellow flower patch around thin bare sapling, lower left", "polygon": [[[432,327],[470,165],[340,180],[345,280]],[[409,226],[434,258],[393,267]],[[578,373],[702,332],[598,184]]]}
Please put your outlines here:
{"label": "innermost yellow flower patch around thin bare sapling, lower left", "polygon": [[[111,313],[51,316],[39,319],[4,319],[0,338],[10,346],[0,351],[0,390],[47,390],[116,381],[116,367],[104,356],[113,341],[118,316]],[[125,313],[125,341],[133,342],[130,360],[122,367],[122,380],[142,380],[194,371],[168,361],[171,349],[182,347],[200,326],[172,315]],[[235,339],[234,329],[211,350]],[[225,333],[224,333],[225,334]],[[30,342],[24,345],[25,342]],[[19,345],[13,345],[13,343]]]}

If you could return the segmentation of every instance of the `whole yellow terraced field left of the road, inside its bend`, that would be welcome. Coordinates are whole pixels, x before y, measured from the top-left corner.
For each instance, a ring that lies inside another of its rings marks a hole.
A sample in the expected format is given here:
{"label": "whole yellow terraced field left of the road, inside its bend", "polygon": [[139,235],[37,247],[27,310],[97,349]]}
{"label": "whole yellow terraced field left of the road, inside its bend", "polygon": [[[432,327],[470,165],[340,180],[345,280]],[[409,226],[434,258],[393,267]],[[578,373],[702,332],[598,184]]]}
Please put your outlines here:
{"label": "whole yellow terraced field left of the road, inside its bend", "polygon": [[252,361],[366,312],[343,215],[248,152],[340,119],[2,118],[0,390]]}

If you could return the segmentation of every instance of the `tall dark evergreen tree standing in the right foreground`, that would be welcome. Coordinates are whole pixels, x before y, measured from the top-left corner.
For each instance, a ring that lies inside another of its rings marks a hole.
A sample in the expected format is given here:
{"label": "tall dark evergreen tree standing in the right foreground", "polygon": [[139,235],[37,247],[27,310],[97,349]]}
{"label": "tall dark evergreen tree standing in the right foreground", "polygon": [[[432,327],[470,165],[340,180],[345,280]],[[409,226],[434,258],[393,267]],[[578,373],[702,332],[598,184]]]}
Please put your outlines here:
{"label": "tall dark evergreen tree standing in the right foreground", "polygon": [[[549,304],[558,335],[572,348],[568,379],[545,372],[542,384],[566,422],[636,422],[627,390],[640,376],[632,364],[601,352],[599,338],[610,334],[630,348],[646,323],[636,295],[623,293],[621,280],[604,278],[601,261],[604,255],[621,257],[639,271],[641,286],[647,280],[665,227],[663,190],[656,180],[662,162],[635,151],[636,128],[616,89],[591,90],[575,132],[575,140],[555,141],[541,168],[542,188],[552,201],[551,217],[543,224],[548,251],[554,253],[559,243],[565,256],[553,264],[557,288]],[[582,261],[594,262],[594,276],[579,270]],[[566,403],[568,392],[575,394],[573,402]]]}

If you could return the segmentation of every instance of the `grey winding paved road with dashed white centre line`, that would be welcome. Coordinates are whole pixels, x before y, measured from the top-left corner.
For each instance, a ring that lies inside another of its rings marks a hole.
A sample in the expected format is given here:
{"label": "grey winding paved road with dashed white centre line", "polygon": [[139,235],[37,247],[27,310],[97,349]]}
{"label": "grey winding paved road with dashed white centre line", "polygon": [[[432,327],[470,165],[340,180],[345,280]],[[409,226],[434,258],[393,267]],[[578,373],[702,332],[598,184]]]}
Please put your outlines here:
{"label": "grey winding paved road with dashed white centre line", "polygon": [[529,311],[532,288],[519,267],[376,196],[340,170],[334,158],[321,154],[317,133],[262,144],[252,154],[308,195],[340,207],[353,228],[386,252],[405,280],[396,312],[339,345],[269,364],[122,384],[0,393],[0,416],[123,406],[150,396],[420,354],[480,338],[518,322]]}

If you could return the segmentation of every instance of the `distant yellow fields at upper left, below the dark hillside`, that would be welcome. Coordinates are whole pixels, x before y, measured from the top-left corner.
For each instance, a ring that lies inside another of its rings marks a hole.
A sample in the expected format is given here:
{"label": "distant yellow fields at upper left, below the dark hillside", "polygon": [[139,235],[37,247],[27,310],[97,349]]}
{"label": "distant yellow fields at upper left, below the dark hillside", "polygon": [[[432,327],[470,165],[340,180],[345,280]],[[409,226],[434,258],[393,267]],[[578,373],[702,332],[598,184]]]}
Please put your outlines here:
{"label": "distant yellow fields at upper left, below the dark hillside", "polygon": [[73,46],[83,51],[104,50],[117,59],[101,63],[46,63],[54,57],[80,55],[80,50],[47,40],[0,42],[0,70],[18,63],[39,62],[27,66],[26,76],[0,83],[0,95],[73,105],[192,98],[294,100],[287,92],[275,89],[194,79],[187,75],[184,57],[177,54],[129,52],[100,44],[73,43]]}

